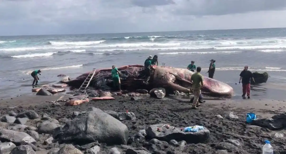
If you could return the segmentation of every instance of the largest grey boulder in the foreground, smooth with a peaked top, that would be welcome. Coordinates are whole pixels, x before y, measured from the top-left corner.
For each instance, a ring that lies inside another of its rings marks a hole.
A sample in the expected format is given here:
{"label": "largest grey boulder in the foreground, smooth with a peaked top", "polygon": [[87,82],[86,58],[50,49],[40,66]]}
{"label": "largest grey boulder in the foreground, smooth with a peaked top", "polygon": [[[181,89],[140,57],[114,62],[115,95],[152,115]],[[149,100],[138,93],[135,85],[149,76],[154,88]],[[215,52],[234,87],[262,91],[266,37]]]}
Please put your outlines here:
{"label": "largest grey boulder in the foreground, smooth with a peaked top", "polygon": [[108,145],[126,144],[128,128],[119,120],[98,108],[68,121],[57,135],[59,141],[76,143],[102,142]]}

